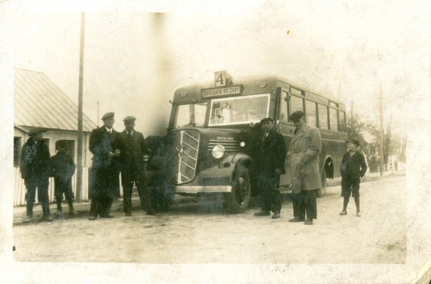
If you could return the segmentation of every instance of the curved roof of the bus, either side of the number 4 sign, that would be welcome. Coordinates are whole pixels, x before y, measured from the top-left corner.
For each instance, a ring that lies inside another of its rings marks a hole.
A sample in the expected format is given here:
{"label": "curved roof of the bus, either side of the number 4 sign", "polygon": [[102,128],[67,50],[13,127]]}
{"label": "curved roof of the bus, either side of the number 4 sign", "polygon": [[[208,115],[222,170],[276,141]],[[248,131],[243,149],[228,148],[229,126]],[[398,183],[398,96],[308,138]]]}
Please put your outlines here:
{"label": "curved roof of the bus, either side of the number 4 sign", "polygon": [[[308,88],[304,88],[303,86],[300,86],[286,78],[283,78],[281,76],[276,76],[276,75],[252,75],[252,76],[243,76],[243,77],[234,77],[232,78],[232,84],[230,85],[244,85],[244,86],[249,86],[249,85],[253,85],[253,84],[259,84],[261,82],[266,82],[267,85],[276,85],[277,82],[283,82],[286,84],[289,84],[293,87],[296,87],[300,90],[303,91],[307,91],[310,93],[313,93],[315,95],[318,95],[322,98],[326,98],[329,99],[332,102],[335,103],[339,103],[341,105],[344,105],[343,102],[341,102],[340,100],[334,98],[333,95],[320,95],[318,92],[314,92]],[[174,101],[177,100],[183,100],[181,99],[181,93],[188,93],[188,94],[200,94],[202,89],[210,89],[210,88],[216,88],[214,87],[214,81],[205,81],[205,82],[199,82],[199,83],[195,83],[195,84],[191,84],[191,85],[187,85],[187,86],[183,86],[178,88],[175,91],[174,94]]]}

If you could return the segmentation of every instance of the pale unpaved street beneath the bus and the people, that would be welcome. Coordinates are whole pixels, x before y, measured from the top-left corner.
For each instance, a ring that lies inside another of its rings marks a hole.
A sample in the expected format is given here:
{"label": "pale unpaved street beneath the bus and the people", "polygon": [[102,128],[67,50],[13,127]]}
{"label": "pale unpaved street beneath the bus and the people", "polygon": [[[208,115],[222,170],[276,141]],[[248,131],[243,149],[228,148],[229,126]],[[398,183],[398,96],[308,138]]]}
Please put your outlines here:
{"label": "pale unpaved street beneath the bus and the people", "polygon": [[[14,224],[14,258],[44,262],[125,263],[390,263],[407,255],[406,176],[361,183],[362,216],[351,198],[340,216],[340,186],[317,200],[313,225],[288,222],[292,202],[284,196],[281,218],[255,217],[255,199],[243,214],[228,214],[219,196],[177,197],[156,216],[135,210],[124,216],[114,203],[112,219],[89,221],[79,211],[70,219]],[[136,203],[138,202],[138,203]],[[40,207],[40,205],[37,205]],[[51,205],[55,212],[55,206]],[[66,206],[67,208],[67,206]],[[64,210],[66,209],[64,208]]]}

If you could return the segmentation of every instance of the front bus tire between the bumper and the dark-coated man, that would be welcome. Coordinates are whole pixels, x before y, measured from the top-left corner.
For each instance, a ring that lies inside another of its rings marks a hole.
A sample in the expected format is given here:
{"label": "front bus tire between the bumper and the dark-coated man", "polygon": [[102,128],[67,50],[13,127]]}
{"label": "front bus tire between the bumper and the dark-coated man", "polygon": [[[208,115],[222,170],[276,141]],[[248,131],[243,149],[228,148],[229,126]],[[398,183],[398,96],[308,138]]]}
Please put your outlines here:
{"label": "front bus tire between the bumper and the dark-coated man", "polygon": [[232,180],[232,192],[225,193],[225,207],[230,213],[243,213],[251,196],[251,183],[248,170],[238,165]]}

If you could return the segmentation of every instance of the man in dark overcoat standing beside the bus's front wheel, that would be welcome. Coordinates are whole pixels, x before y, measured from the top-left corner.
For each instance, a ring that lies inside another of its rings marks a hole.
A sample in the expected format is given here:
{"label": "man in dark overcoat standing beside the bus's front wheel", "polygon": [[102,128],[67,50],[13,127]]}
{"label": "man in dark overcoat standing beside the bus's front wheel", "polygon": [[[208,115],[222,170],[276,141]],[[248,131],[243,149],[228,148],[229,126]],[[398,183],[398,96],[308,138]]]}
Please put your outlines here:
{"label": "man in dark overcoat standing beside the bus's front wheel", "polygon": [[284,160],[286,159],[286,145],[280,133],[274,130],[274,121],[265,118],[260,122],[263,134],[258,141],[253,160],[257,197],[261,211],[255,216],[269,216],[274,212],[273,219],[280,218],[280,175],[285,174]]}

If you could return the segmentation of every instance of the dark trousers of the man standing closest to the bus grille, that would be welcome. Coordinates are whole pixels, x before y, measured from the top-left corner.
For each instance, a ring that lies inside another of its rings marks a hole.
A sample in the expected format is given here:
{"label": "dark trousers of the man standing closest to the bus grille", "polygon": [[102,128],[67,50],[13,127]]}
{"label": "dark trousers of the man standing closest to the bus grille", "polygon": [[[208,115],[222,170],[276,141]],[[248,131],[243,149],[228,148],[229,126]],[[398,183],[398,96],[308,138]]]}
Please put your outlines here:
{"label": "dark trousers of the man standing closest to the bus grille", "polygon": [[145,174],[142,168],[138,168],[135,164],[121,171],[121,182],[123,186],[123,206],[124,213],[132,212],[132,192],[133,184],[136,183],[138,195],[141,201],[141,208],[146,211],[151,211],[150,192],[145,183]]}

